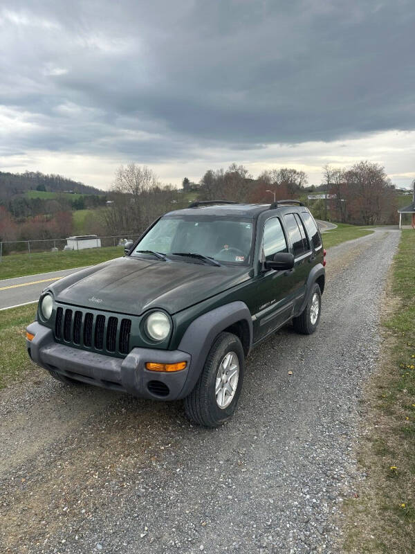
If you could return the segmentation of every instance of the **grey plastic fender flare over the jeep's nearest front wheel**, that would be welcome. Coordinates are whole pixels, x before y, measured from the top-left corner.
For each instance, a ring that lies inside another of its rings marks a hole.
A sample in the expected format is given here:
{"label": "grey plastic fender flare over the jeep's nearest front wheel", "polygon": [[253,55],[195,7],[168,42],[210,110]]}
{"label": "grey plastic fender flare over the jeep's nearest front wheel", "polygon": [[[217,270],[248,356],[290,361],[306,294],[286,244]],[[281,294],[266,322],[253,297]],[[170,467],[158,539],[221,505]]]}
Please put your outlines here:
{"label": "grey plastic fender flare over the jeep's nearest front wheel", "polygon": [[183,386],[180,397],[187,396],[201,375],[205,359],[215,337],[237,321],[244,320],[249,328],[249,348],[252,346],[252,316],[246,303],[231,302],[196,318],[183,334],[178,350],[192,356],[192,371]]}

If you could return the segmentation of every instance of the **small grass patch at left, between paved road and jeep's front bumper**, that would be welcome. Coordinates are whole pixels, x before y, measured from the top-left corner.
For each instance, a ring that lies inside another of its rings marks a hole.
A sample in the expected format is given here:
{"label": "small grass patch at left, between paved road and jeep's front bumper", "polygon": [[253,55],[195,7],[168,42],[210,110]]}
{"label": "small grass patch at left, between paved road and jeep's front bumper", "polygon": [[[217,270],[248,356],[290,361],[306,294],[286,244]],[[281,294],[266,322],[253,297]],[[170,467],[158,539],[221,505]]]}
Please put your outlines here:
{"label": "small grass patch at left, between paved road and jeep's front bumper", "polygon": [[0,388],[35,368],[26,352],[26,325],[35,320],[37,304],[3,310],[0,316]]}

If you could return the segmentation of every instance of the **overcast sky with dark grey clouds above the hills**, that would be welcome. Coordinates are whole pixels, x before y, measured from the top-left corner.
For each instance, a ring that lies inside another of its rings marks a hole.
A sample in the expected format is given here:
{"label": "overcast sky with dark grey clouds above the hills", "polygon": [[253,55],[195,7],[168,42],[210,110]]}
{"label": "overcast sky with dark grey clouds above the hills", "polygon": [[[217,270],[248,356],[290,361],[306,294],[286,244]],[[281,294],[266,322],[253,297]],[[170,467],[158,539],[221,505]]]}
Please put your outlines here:
{"label": "overcast sky with dark grey clouds above the hills", "polygon": [[415,177],[414,0],[2,0],[0,170]]}

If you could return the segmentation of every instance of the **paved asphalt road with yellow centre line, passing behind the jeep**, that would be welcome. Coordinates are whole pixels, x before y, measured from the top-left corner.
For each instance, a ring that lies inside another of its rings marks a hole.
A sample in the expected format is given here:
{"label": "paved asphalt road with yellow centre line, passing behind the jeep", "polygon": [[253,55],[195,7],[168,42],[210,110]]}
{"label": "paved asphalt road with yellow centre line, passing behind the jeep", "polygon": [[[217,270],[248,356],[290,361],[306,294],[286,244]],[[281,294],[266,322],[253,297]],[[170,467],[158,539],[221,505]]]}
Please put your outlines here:
{"label": "paved asphalt road with yellow centre line, passing behind the jeep", "polygon": [[[336,227],[333,223],[320,220],[317,221],[317,224],[322,231],[329,231],[329,229],[335,229]],[[42,290],[50,283],[75,273],[79,269],[82,268],[63,269],[61,271],[50,271],[49,273],[0,280],[0,310],[36,302]]]}

